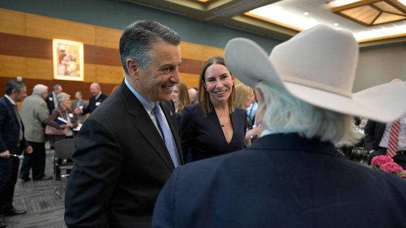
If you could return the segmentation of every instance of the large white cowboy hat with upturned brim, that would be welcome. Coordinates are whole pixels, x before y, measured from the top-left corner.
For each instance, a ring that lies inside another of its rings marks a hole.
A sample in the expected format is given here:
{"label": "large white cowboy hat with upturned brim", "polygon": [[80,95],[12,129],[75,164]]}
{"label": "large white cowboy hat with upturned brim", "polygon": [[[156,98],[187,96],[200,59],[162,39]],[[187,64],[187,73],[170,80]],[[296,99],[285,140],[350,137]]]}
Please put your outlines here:
{"label": "large white cowboy hat with upturned brim", "polygon": [[358,44],[349,32],[317,25],[277,45],[269,58],[253,41],[235,38],[224,57],[231,73],[252,88],[264,81],[315,106],[383,123],[406,113],[406,82],[352,93]]}

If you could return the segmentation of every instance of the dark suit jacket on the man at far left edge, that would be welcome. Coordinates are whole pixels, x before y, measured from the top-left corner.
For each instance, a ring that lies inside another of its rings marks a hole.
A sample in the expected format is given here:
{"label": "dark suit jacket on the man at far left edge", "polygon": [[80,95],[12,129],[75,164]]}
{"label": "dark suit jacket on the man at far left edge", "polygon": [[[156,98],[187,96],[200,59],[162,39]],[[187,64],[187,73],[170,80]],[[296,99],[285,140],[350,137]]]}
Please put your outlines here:
{"label": "dark suit jacket on the man at far left edge", "polygon": [[[22,121],[21,126],[24,134],[24,125],[22,124]],[[18,124],[13,104],[11,104],[7,97],[2,97],[0,99],[0,131],[0,153],[9,150],[10,154],[21,155],[21,152],[29,146],[23,135],[22,140],[20,141],[20,149],[17,150],[20,125]]]}

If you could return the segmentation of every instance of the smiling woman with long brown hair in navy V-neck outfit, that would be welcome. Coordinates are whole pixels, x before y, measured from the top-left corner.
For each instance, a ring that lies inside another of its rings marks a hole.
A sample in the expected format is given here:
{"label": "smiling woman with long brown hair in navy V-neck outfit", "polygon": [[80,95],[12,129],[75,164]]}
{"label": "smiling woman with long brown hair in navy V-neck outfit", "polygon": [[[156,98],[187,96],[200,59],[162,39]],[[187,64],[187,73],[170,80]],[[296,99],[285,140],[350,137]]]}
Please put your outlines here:
{"label": "smiling woman with long brown hair in navy V-neck outfit", "polygon": [[223,57],[212,57],[203,64],[198,103],[184,107],[179,125],[185,161],[189,148],[192,161],[243,148],[247,112],[233,105],[233,81]]}

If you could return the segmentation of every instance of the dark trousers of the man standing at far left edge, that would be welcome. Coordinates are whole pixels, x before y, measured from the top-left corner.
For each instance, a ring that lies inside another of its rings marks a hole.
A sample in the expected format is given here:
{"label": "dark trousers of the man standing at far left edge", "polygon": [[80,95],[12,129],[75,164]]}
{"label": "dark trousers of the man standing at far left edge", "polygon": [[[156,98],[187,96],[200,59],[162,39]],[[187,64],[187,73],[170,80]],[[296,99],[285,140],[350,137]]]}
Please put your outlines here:
{"label": "dark trousers of the man standing at far left edge", "polygon": [[14,186],[17,183],[20,160],[16,157],[0,158],[0,214],[11,209]]}

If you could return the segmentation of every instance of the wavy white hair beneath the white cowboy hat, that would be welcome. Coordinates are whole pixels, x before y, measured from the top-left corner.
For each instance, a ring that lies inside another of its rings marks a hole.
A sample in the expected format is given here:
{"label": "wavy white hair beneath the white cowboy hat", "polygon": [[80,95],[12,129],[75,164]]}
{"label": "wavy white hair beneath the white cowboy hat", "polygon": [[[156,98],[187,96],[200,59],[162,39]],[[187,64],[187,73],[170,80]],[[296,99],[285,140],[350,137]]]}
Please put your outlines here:
{"label": "wavy white hair beneath the white cowboy hat", "polygon": [[260,82],[265,108],[262,126],[273,133],[298,133],[305,138],[331,141],[334,145],[353,145],[362,137],[356,133],[354,118],[314,106],[293,97],[286,90]]}

